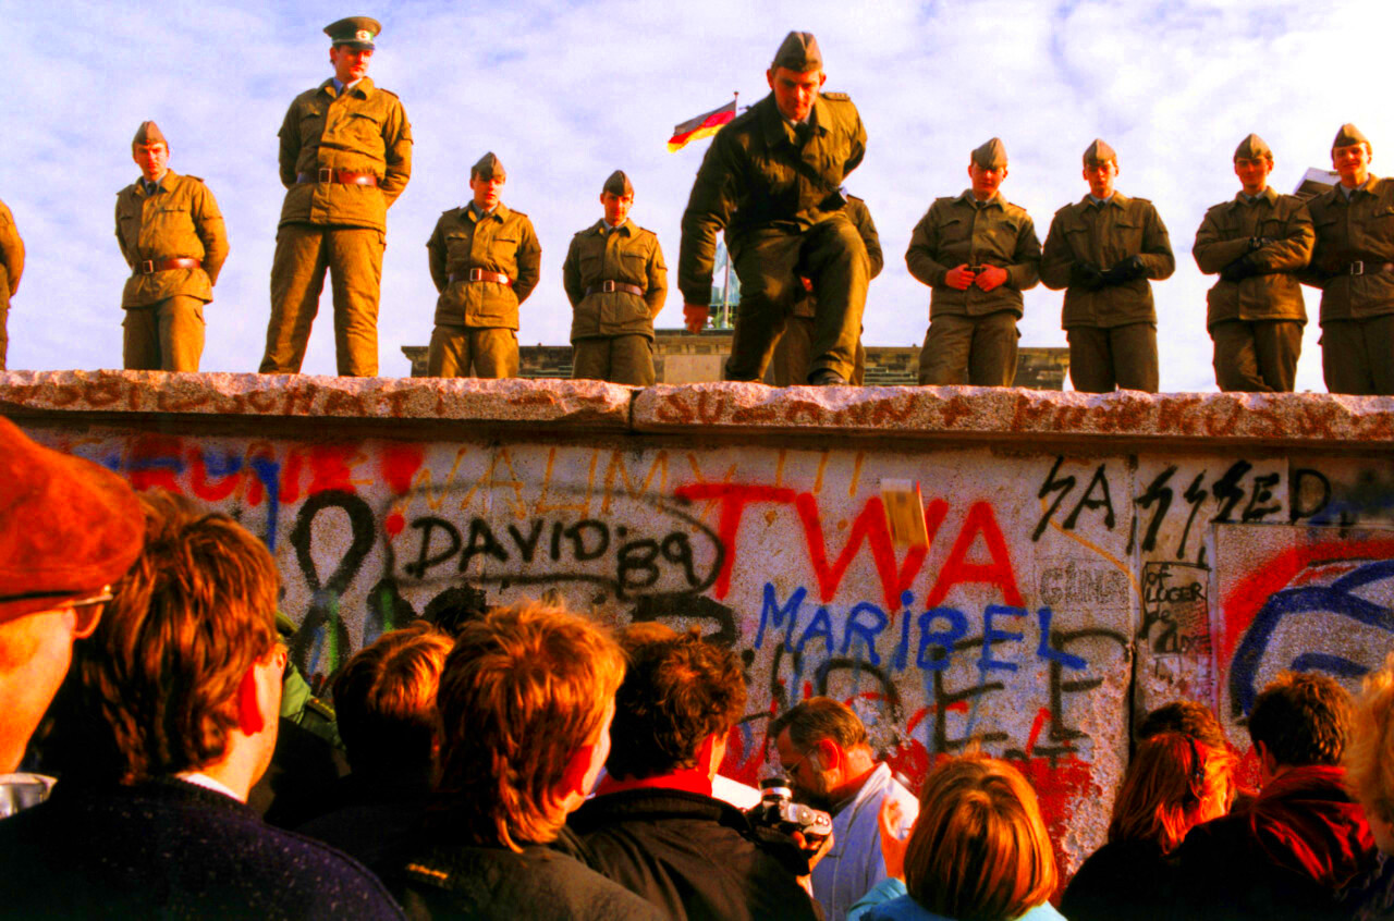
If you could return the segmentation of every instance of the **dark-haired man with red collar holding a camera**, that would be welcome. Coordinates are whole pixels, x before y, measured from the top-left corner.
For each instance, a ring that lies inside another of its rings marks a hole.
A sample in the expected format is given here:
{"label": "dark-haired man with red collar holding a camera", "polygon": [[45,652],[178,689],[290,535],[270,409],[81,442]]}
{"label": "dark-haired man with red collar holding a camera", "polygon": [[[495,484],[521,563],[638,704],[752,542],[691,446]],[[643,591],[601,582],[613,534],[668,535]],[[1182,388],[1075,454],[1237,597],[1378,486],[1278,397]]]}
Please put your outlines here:
{"label": "dark-haired man with red collar holding a camera", "polygon": [[677,920],[820,917],[807,874],[831,839],[810,861],[792,836],[711,796],[746,708],[736,655],[696,630],[626,645],[609,775],[569,821],[591,865]]}

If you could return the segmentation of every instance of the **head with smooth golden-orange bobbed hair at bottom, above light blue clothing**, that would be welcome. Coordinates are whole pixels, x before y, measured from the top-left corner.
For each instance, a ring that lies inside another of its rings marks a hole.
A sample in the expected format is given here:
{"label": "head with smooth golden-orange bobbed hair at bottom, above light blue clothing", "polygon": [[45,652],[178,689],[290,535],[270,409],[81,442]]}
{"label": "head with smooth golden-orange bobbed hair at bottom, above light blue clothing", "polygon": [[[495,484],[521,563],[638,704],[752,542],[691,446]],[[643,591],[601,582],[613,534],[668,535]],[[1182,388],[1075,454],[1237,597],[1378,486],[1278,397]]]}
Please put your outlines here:
{"label": "head with smooth golden-orange bobbed hair at bottom, above light blue clothing", "polygon": [[962,755],[934,769],[905,850],[917,903],[965,921],[1008,921],[1055,889],[1055,854],[1036,791],[995,758]]}

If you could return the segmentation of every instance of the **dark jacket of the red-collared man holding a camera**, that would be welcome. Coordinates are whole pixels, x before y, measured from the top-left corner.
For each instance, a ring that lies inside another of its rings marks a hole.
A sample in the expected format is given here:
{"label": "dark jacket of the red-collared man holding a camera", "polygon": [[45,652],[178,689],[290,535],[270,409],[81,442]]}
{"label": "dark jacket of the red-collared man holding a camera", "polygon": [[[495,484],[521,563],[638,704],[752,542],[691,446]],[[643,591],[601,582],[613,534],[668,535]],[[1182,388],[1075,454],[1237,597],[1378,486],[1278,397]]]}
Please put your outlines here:
{"label": "dark jacket of the red-collared man holding a camera", "polygon": [[806,858],[792,840],[764,837],[721,800],[682,790],[609,793],[573,812],[570,828],[595,869],[679,921],[821,917],[799,886],[796,867]]}

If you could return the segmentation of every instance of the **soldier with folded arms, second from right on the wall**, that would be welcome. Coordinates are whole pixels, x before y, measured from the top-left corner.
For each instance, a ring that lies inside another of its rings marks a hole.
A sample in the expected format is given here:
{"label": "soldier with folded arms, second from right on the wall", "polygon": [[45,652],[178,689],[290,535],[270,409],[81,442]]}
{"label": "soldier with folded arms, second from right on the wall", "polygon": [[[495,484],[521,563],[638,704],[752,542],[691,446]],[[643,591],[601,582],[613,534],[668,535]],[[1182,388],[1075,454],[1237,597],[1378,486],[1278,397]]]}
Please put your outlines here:
{"label": "soldier with folded arms, second from right on the wall", "polygon": [[1256,134],[1234,152],[1242,189],[1206,212],[1192,254],[1220,280],[1206,295],[1221,390],[1291,393],[1306,307],[1296,272],[1312,258],[1312,216],[1302,199],[1269,187],[1273,149]]}

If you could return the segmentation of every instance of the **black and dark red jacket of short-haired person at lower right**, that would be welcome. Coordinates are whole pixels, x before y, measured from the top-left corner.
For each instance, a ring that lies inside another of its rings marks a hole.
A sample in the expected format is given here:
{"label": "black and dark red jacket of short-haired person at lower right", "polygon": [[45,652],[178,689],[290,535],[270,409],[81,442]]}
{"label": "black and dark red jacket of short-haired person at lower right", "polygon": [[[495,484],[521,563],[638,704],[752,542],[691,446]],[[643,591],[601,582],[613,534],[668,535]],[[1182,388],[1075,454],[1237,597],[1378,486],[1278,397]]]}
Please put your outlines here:
{"label": "black and dark red jacket of short-haired person at lower right", "polygon": [[1374,839],[1341,768],[1292,768],[1253,804],[1190,829],[1177,849],[1185,918],[1348,918],[1347,890],[1374,867]]}

